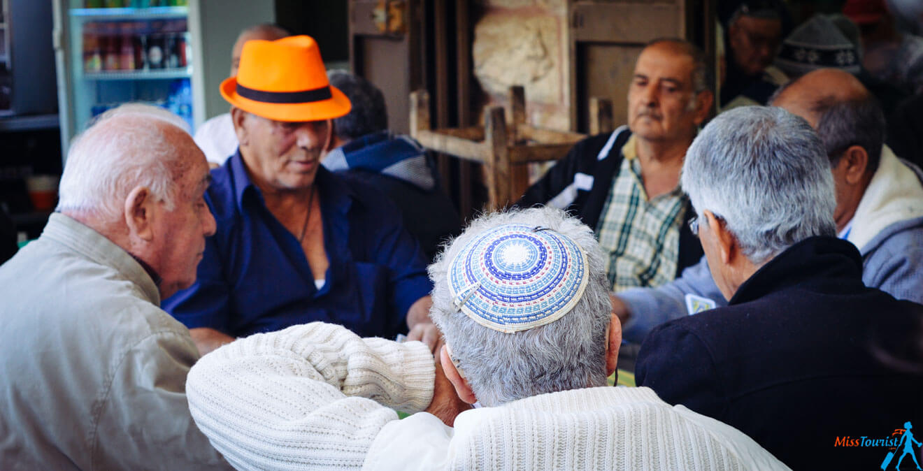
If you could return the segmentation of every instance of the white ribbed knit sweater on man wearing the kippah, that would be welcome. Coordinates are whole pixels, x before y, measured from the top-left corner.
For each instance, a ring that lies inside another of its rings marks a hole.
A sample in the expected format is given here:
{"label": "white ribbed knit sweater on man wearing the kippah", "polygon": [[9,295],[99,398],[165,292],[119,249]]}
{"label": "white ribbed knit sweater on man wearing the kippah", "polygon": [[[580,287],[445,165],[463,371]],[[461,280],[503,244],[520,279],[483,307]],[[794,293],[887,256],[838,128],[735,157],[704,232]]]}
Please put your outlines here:
{"label": "white ribbed knit sweater on man wearing the kippah", "polygon": [[787,469],[740,431],[648,388],[541,394],[462,413],[418,412],[433,357],[419,342],[331,324],[249,336],[198,360],[186,394],[238,469]]}

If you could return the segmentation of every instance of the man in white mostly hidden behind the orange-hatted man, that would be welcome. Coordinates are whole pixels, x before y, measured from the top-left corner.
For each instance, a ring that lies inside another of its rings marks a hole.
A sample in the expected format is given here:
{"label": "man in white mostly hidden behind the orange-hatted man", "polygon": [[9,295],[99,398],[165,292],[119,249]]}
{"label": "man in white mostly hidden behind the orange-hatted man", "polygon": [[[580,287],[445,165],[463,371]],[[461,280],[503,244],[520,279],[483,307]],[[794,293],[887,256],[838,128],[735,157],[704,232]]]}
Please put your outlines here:
{"label": "man in white mostly hidden behind the orange-hatted man", "polygon": [[[253,40],[275,41],[289,35],[289,32],[278,25],[262,23],[244,29],[234,41],[231,50],[231,77],[237,77],[237,67],[240,66],[240,54],[244,50],[244,43]],[[218,167],[237,151],[237,135],[234,133],[234,123],[231,113],[225,112],[202,123],[196,130],[196,145],[205,153],[209,165]]]}

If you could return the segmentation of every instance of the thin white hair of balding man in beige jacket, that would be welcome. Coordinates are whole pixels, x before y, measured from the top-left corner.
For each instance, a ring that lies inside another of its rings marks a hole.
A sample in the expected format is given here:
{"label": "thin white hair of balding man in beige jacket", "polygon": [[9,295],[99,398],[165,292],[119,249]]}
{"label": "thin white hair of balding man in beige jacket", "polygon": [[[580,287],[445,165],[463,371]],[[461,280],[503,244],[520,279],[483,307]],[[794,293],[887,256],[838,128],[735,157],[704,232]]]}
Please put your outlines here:
{"label": "thin white hair of balding man in beige jacket", "polygon": [[183,153],[168,135],[171,126],[189,134],[182,118],[155,106],[128,103],[102,113],[71,143],[56,210],[113,222],[138,186],[173,210],[174,168]]}

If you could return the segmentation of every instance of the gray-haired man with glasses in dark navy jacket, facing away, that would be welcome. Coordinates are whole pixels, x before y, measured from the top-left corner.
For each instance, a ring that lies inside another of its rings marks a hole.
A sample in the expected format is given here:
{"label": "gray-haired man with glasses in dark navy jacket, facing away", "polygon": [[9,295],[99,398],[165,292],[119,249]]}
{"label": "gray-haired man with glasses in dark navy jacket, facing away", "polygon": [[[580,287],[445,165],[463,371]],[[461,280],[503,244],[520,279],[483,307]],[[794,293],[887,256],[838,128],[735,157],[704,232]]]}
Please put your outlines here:
{"label": "gray-haired man with glasses in dark navy jacket, facing away", "polygon": [[779,108],[720,114],[689,147],[683,188],[726,307],[653,330],[637,381],[747,433],[794,469],[881,463],[889,437],[923,417],[923,306],[862,283],[856,246],[835,237],[821,139]]}

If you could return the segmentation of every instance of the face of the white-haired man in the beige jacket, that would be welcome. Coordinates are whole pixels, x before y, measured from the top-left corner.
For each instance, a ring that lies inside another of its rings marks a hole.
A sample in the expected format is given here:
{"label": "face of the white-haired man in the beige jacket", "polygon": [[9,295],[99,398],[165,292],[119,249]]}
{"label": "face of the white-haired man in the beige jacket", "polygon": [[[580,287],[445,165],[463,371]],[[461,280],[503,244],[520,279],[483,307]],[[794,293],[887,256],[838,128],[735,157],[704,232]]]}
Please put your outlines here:
{"label": "face of the white-haired man in the beige jacket", "polygon": [[174,292],[189,288],[196,281],[198,262],[205,252],[205,238],[215,233],[215,218],[205,203],[209,186],[209,164],[192,138],[176,130],[181,152],[186,152],[177,169],[174,209],[158,203],[154,219],[154,251],[151,267],[162,277],[161,295],[168,298]]}

